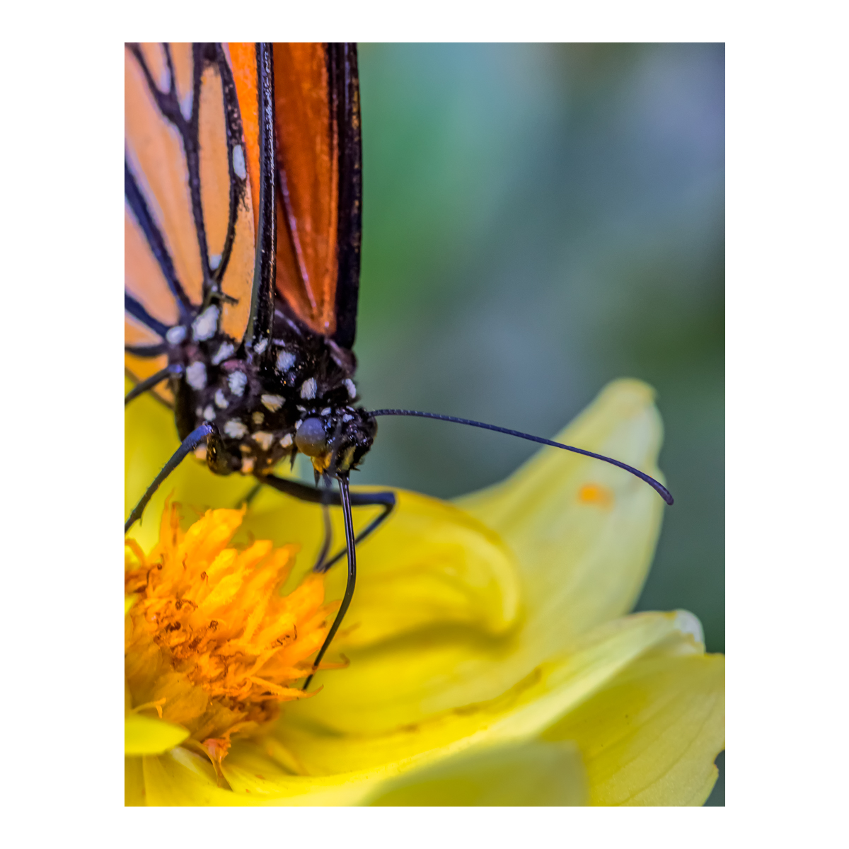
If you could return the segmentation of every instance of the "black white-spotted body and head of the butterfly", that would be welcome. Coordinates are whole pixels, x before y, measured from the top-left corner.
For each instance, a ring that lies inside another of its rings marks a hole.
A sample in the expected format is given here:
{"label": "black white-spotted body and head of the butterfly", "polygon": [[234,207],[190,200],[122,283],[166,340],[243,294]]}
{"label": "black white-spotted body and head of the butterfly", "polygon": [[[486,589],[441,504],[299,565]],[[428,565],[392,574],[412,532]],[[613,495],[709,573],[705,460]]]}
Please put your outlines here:
{"label": "black white-spotted body and head of the butterfly", "polygon": [[374,419],[353,406],[351,351],[286,313],[278,302],[270,339],[252,347],[220,333],[215,305],[166,335],[169,363],[182,367],[171,380],[177,430],[184,439],[204,422],[216,427],[206,460],[218,474],[265,475],[299,450],[317,472],[346,471],[374,440]]}

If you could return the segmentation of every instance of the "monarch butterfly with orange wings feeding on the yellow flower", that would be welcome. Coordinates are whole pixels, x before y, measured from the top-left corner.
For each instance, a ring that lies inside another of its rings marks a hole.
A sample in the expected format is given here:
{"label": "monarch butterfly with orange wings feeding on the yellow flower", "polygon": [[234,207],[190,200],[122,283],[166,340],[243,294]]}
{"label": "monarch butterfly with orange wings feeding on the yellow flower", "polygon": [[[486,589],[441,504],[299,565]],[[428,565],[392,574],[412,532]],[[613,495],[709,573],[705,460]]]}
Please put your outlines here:
{"label": "monarch butterfly with orange wings feeding on the yellow flower", "polygon": [[[387,519],[393,492],[350,492],[380,415],[469,424],[565,448],[658,481],[615,459],[492,424],[357,406],[353,382],[362,222],[357,48],[338,43],[127,44],[125,50],[125,365],[169,404],[181,446],[132,510],[198,451],[219,475],[254,475],[323,505],[314,566],[346,556]],[[303,453],[317,486],[273,469]],[[338,492],[330,489],[332,479]],[[321,483],[323,486],[318,486]],[[346,546],[329,556],[327,508]],[[380,506],[358,535],[351,508]],[[306,679],[304,689],[312,675]]]}

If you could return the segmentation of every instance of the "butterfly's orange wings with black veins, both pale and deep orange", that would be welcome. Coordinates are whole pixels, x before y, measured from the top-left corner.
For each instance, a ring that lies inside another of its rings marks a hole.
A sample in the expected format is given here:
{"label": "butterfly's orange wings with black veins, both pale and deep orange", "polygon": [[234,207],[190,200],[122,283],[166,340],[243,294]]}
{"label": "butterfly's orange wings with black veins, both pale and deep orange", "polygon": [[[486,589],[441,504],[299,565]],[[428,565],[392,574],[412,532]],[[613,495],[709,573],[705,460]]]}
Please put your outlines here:
{"label": "butterfly's orange wings with black veins, both pale and deep orange", "polygon": [[[356,46],[268,45],[265,70],[259,59],[254,43],[127,45],[126,366],[138,380],[165,367],[169,329],[188,332],[211,304],[221,305],[216,333],[238,347],[272,288],[307,329],[353,346]],[[170,400],[165,385],[159,394]]]}

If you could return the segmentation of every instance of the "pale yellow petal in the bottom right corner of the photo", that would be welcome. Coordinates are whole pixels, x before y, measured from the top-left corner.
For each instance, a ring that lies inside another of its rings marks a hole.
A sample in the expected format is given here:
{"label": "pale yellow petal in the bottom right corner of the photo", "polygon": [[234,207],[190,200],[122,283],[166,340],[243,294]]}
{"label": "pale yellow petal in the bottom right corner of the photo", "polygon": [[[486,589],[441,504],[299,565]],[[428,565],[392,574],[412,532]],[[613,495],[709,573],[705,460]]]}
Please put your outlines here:
{"label": "pale yellow petal in the bottom right corner of the photo", "polygon": [[725,747],[725,658],[675,635],[544,737],[580,747],[590,804],[702,805]]}

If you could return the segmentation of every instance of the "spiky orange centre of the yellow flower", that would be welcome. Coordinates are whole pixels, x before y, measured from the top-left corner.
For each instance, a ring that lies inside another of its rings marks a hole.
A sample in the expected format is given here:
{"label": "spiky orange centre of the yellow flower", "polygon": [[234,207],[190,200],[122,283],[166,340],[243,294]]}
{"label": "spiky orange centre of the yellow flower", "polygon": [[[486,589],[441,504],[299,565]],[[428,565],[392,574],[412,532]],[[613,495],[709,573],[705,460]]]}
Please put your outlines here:
{"label": "spiky orange centre of the yellow flower", "polygon": [[282,703],[312,695],[295,682],[312,672],[339,606],[324,604],[314,573],[282,595],[297,547],[231,546],[244,516],[207,510],[182,531],[171,504],[149,554],[131,539],[125,548],[125,593],[136,599],[125,633],[132,705],[157,706],[219,765],[232,734],[261,730]]}

